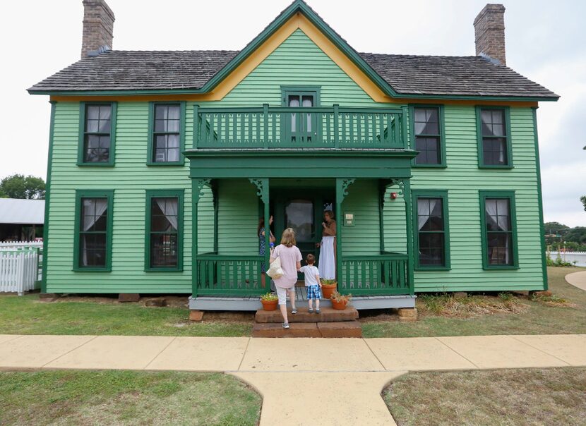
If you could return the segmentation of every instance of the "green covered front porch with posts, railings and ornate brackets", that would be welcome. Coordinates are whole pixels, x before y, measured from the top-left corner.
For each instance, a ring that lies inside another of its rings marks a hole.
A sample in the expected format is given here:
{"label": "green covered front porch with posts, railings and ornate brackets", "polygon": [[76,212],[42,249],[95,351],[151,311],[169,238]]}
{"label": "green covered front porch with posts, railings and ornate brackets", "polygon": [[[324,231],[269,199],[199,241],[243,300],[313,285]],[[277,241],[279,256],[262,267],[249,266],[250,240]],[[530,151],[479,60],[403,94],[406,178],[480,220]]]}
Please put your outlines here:
{"label": "green covered front porch with posts, railings and ornate brackets", "polygon": [[[191,309],[260,309],[260,296],[270,291],[270,279],[267,277],[263,285],[261,274],[269,254],[268,250],[264,256],[258,254],[258,219],[263,217],[268,224],[274,217],[276,244],[283,229],[292,227],[304,257],[312,252],[318,258],[316,243],[321,241],[325,209],[331,209],[336,219],[338,291],[352,293],[352,305],[357,309],[414,306],[409,168],[401,167],[410,157],[403,161],[397,159],[397,152],[373,152],[366,161],[378,167],[354,170],[352,175],[358,177],[324,178],[336,171],[352,171],[351,164],[364,158],[348,158],[347,166],[329,168],[328,164],[344,160],[347,153],[323,154],[307,157],[304,152],[299,157],[299,152],[290,152],[285,158],[282,153],[275,157],[254,151],[232,152],[239,159],[241,170],[237,170],[235,165],[214,165],[222,158],[229,162],[225,150],[189,152],[193,178]],[[252,162],[258,166],[253,167]],[[374,171],[385,177],[376,177]],[[261,177],[249,177],[252,173]],[[198,218],[209,209],[210,199],[213,224]],[[385,222],[390,226],[385,228]],[[269,245],[268,233],[265,245]],[[301,307],[306,305],[302,285],[300,281],[297,288],[297,305]],[[327,306],[329,301],[323,303]]]}

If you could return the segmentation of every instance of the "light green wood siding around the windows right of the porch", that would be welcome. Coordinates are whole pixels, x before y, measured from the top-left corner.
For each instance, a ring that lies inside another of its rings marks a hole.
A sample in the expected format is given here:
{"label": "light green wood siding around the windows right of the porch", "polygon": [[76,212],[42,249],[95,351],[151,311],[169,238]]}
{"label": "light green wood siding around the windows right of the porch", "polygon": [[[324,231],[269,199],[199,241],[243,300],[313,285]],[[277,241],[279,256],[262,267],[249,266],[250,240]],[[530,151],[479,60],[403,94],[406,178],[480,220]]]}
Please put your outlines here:
{"label": "light green wood siding around the windows right of the porch", "polygon": [[[474,107],[446,105],[446,169],[413,169],[413,189],[448,190],[450,271],[415,272],[416,291],[542,288],[533,117],[511,108],[513,169],[479,169]],[[519,269],[482,269],[479,190],[514,190]],[[417,234],[416,234],[417,235]]]}

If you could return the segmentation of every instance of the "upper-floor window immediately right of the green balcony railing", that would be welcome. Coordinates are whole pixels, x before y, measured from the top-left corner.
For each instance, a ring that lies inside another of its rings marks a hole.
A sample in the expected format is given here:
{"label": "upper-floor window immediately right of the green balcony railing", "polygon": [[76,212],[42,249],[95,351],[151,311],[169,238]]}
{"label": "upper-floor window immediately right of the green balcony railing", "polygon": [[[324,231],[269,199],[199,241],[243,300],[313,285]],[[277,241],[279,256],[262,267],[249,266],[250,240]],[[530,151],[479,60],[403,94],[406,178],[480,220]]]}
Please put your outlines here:
{"label": "upper-floor window immediately right of the green balcony railing", "polygon": [[416,166],[446,166],[446,148],[443,141],[443,108],[413,106],[412,139],[419,151],[414,159]]}

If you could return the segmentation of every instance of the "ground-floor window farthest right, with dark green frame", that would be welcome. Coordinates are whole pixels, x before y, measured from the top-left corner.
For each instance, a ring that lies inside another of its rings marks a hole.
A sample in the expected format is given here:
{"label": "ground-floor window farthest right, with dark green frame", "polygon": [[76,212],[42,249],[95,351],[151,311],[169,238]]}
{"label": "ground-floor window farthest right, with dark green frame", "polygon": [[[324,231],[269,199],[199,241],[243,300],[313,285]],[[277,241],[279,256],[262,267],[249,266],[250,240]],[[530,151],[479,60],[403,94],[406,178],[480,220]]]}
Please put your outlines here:
{"label": "ground-floor window farthest right, with dark green frame", "polygon": [[517,227],[512,191],[480,191],[484,269],[515,268]]}

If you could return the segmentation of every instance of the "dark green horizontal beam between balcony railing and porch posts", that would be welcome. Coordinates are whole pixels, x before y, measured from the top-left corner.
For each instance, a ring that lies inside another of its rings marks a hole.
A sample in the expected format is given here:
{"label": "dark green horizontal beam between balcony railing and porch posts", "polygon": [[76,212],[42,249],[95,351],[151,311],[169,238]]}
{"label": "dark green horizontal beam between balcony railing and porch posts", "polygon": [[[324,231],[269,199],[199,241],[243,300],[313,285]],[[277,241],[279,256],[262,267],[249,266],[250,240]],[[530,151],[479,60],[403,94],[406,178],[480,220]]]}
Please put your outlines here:
{"label": "dark green horizontal beam between balcony railing and porch posts", "polygon": [[191,178],[409,178],[411,150],[186,150]]}

